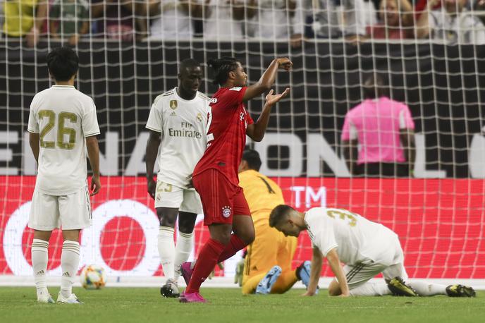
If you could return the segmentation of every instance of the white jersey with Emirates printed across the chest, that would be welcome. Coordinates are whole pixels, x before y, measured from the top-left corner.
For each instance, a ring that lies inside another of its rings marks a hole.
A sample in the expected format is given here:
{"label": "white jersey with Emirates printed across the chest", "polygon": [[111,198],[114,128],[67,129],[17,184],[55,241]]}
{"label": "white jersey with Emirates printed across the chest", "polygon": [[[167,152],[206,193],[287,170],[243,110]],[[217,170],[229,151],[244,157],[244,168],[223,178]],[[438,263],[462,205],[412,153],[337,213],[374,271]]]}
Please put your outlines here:
{"label": "white jersey with Emirates printed across the chest", "polygon": [[182,99],[177,87],[156,97],[147,128],[161,133],[159,181],[188,187],[188,176],[207,147],[209,102],[201,92],[194,99]]}

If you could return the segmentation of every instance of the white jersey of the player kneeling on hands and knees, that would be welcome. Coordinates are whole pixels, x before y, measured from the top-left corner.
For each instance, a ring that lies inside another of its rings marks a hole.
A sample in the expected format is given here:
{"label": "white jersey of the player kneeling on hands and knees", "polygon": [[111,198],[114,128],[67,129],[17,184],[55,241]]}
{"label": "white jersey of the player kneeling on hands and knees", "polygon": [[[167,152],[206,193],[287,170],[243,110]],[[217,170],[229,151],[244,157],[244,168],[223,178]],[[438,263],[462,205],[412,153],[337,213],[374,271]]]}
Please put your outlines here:
{"label": "white jersey of the player kneeling on hands and knees", "polygon": [[305,213],[307,232],[315,247],[326,257],[337,248],[344,264],[378,262],[391,265],[395,259],[398,236],[382,224],[369,221],[345,209],[314,207]]}

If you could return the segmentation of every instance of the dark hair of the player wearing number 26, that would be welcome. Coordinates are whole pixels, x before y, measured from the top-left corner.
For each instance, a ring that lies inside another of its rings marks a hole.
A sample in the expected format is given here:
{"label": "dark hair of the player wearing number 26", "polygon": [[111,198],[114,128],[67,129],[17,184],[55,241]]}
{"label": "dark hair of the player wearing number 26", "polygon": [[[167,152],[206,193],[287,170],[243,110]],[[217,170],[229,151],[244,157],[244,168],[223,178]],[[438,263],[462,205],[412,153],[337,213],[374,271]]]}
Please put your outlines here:
{"label": "dark hair of the player wearing number 26", "polygon": [[47,54],[47,68],[56,81],[66,81],[78,73],[79,57],[68,47],[52,49]]}

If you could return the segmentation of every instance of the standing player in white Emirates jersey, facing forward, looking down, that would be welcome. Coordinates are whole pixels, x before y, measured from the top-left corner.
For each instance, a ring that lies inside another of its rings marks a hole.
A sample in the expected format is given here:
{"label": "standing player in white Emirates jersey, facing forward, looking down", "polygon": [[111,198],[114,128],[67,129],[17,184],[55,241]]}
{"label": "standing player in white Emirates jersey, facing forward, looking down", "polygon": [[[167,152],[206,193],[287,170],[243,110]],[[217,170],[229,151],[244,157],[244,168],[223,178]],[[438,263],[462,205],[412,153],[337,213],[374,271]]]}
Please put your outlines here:
{"label": "standing player in white Emirates jersey, facing forward, looking down", "polygon": [[[177,286],[180,264],[188,260],[192,251],[195,219],[202,214],[200,197],[190,185],[190,175],[207,147],[210,99],[198,91],[201,79],[202,68],[197,61],[181,61],[178,87],[155,98],[147,121],[148,193],[155,200],[160,220],[158,248],[167,278],[160,289],[164,297],[180,295]],[[160,170],[155,182],[157,152]],[[177,215],[179,235],[175,245]]]}

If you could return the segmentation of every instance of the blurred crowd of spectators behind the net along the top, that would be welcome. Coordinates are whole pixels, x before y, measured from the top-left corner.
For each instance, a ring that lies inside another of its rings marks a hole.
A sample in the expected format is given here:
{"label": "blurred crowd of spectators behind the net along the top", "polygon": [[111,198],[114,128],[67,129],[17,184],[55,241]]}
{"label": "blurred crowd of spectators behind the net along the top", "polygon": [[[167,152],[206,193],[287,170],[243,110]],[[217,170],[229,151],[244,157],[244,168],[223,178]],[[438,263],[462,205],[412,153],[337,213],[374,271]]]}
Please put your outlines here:
{"label": "blurred crowd of spectators behind the net along the top", "polygon": [[485,43],[485,0],[5,0],[2,37]]}

